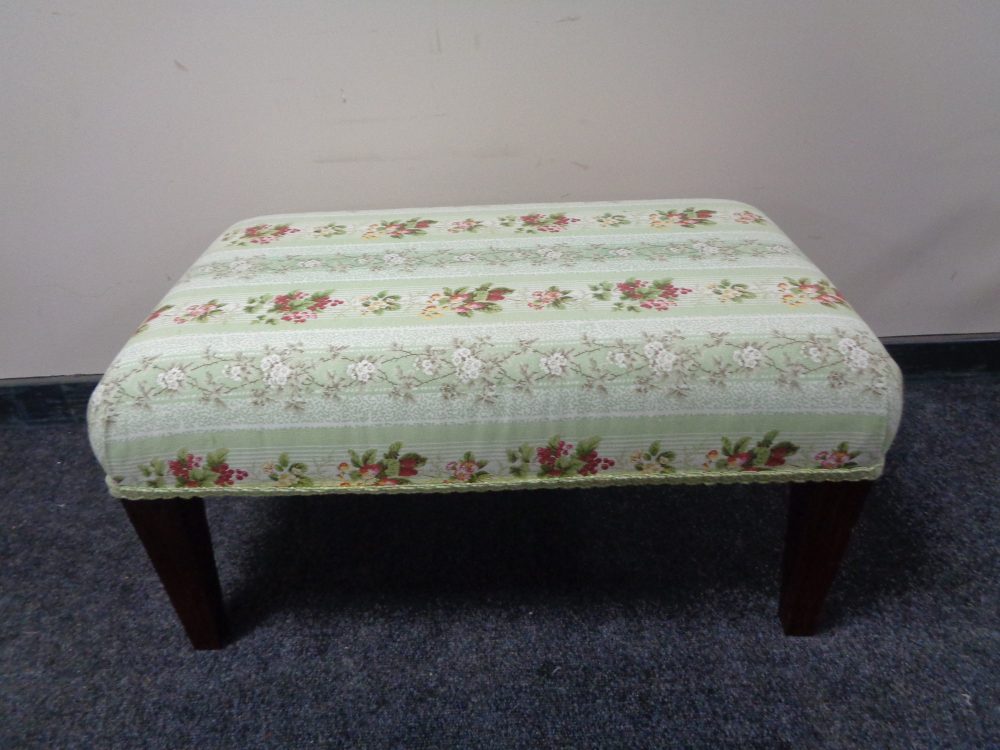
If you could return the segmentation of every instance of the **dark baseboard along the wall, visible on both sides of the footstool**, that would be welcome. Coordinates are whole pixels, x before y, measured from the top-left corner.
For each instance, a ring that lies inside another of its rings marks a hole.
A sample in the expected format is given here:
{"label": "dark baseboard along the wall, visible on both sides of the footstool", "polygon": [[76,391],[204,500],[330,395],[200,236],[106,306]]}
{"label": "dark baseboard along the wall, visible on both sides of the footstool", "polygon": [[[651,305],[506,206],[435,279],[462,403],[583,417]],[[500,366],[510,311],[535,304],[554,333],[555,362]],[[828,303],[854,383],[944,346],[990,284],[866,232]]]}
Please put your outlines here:
{"label": "dark baseboard along the wall, visible on both sides of the footstool", "polygon": [[[967,378],[1000,372],[1000,333],[886,336],[907,380]],[[98,375],[0,379],[0,428],[87,421]]]}

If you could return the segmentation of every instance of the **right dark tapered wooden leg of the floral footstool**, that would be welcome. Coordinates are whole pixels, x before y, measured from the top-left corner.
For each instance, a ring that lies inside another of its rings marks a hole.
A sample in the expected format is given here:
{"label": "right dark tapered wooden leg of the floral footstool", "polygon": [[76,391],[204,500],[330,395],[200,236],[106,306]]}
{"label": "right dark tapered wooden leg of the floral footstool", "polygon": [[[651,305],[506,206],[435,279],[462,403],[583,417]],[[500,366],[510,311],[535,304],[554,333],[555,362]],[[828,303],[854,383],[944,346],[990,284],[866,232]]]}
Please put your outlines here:
{"label": "right dark tapered wooden leg of the floral footstool", "polygon": [[785,635],[812,635],[872,483],[792,485],[778,618]]}

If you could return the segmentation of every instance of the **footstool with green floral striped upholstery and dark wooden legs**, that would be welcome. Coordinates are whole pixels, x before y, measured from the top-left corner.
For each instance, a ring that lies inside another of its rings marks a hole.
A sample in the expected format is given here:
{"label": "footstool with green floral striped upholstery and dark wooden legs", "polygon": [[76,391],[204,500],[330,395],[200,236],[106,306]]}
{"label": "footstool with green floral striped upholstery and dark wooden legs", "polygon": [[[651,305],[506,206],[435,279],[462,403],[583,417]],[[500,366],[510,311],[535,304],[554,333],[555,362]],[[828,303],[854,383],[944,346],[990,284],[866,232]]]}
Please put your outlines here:
{"label": "footstool with green floral striped upholstery and dark wooden legs", "polygon": [[901,396],[761,211],[616,201],[240,222],[88,422],[195,648],[226,639],[203,498],[626,484],[793,483],[779,617],[807,635]]}

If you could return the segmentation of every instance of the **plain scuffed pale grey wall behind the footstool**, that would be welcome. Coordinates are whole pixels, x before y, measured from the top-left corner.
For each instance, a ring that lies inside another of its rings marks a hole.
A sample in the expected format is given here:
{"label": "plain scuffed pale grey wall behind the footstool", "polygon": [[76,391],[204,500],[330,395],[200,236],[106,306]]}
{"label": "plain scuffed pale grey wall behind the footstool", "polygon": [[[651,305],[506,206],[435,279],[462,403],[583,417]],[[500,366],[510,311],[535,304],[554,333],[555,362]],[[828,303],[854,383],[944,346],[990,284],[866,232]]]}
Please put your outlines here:
{"label": "plain scuffed pale grey wall behind the footstool", "polygon": [[230,223],[720,197],[879,335],[1000,330],[1000,3],[0,5],[0,377],[101,372]]}

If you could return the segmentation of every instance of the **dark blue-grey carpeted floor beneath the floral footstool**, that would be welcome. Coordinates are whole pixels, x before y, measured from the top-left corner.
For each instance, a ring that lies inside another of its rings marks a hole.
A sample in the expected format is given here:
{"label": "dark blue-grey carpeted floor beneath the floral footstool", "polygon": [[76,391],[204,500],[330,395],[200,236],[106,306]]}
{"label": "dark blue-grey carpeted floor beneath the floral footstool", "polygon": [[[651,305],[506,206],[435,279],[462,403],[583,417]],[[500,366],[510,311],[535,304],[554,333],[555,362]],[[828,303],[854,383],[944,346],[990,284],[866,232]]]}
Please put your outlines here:
{"label": "dark blue-grey carpeted floor beneath the floral footstool", "polygon": [[823,631],[781,487],[209,503],[194,652],[84,430],[0,432],[4,748],[1000,746],[1000,379],[908,385]]}

